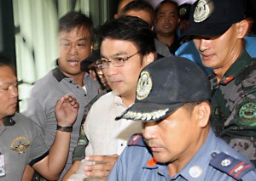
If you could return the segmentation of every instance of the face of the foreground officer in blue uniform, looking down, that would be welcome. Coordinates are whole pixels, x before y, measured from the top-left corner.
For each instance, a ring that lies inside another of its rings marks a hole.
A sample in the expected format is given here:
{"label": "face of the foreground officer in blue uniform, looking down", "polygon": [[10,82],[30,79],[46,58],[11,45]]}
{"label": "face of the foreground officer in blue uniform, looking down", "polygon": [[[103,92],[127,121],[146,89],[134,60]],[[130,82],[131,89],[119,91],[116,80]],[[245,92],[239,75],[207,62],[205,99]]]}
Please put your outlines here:
{"label": "face of the foreground officer in blue uniform, looking down", "polygon": [[159,122],[143,123],[143,137],[154,159],[161,163],[186,163],[197,148],[200,129],[195,112],[183,107]]}

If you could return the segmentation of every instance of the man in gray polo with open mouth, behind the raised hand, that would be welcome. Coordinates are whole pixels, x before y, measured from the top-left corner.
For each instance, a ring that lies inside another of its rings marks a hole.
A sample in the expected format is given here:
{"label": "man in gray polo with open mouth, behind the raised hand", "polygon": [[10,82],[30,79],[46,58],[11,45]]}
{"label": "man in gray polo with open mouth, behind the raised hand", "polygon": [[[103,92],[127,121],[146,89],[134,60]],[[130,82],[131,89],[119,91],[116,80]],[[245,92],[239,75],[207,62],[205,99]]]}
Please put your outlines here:
{"label": "man in gray polo with open mouth, behind the raised hand", "polygon": [[101,88],[89,74],[80,70],[80,62],[90,55],[93,45],[92,21],[84,14],[70,12],[61,17],[59,25],[58,66],[36,82],[24,114],[36,122],[45,143],[50,147],[56,133],[54,107],[57,99],[69,93],[78,100],[79,114],[73,125],[67,165],[62,172],[64,174],[72,165],[73,149],[79,138],[84,107],[96,97]]}

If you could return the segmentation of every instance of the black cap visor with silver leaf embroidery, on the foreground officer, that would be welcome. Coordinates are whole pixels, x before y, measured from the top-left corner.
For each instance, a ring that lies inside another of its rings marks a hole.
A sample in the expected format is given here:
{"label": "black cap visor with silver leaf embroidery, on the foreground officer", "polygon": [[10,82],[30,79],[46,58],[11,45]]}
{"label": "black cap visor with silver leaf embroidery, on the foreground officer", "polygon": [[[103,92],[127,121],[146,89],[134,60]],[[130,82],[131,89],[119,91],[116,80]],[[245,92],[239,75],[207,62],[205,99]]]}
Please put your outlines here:
{"label": "black cap visor with silver leaf embroidery, on the foreground officer", "polygon": [[135,103],[125,110],[121,116],[115,120],[126,119],[139,122],[156,122],[170,115],[174,110],[184,103],[176,103],[172,105],[159,105],[152,103]]}

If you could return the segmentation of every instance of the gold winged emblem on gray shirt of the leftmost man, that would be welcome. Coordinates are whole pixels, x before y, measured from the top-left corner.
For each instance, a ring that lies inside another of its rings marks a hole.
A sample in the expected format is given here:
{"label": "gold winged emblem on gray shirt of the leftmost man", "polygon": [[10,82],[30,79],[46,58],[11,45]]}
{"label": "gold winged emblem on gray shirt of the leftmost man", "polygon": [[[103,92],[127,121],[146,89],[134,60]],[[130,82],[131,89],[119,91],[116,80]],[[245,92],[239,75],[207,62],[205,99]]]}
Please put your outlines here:
{"label": "gold winged emblem on gray shirt of the leftmost man", "polygon": [[13,140],[10,150],[15,150],[19,155],[24,155],[30,142],[25,137],[18,137]]}

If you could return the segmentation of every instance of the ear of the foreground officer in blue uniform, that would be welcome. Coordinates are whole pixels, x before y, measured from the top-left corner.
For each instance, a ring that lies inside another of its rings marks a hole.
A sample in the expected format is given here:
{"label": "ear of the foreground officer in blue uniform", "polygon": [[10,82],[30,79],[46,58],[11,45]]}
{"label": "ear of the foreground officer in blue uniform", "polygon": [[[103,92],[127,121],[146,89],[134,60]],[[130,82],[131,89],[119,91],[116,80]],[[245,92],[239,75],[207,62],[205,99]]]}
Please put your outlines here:
{"label": "ear of the foreground officer in blue uniform", "polygon": [[200,105],[196,105],[197,119],[199,127],[207,127],[210,115],[211,106],[207,102],[202,102]]}

